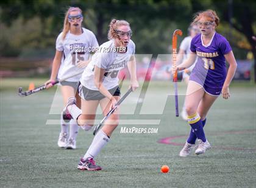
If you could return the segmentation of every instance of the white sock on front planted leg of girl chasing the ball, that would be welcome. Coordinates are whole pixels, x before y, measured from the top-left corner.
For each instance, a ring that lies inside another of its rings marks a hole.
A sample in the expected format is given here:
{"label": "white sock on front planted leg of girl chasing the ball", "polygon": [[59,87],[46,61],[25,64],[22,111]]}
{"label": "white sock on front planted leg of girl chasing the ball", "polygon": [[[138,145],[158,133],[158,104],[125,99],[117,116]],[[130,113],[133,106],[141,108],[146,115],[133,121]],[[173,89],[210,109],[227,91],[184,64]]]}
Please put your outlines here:
{"label": "white sock on front planted leg of girl chasing the ball", "polygon": [[110,138],[108,138],[102,130],[99,130],[96,136],[94,136],[91,146],[85,153],[84,159],[87,159],[88,157],[95,158],[108,141],[110,141]]}

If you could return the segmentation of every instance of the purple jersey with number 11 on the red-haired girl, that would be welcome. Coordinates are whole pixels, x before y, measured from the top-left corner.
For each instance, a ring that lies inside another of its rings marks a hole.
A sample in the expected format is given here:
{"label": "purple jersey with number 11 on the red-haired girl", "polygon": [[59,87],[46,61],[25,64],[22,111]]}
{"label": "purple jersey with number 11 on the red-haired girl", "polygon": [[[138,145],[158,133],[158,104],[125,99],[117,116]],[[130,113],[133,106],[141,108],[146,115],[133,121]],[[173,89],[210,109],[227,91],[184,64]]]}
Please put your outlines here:
{"label": "purple jersey with number 11 on the red-haired girl", "polygon": [[224,55],[232,50],[229,42],[224,36],[215,33],[209,44],[204,45],[202,35],[198,34],[192,39],[190,50],[198,56],[190,79],[204,88],[212,89],[210,94],[219,95],[227,73]]}

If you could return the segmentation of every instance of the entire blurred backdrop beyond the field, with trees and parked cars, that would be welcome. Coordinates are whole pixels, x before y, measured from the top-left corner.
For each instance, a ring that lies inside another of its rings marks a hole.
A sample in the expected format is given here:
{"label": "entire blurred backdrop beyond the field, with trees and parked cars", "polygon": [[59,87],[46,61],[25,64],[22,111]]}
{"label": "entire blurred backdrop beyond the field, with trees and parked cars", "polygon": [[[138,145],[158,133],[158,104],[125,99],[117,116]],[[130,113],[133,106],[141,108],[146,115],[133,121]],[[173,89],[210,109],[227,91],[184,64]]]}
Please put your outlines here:
{"label": "entire blurred backdrop beyond the field, with trees and parked cars", "polygon": [[[221,24],[217,32],[230,42],[238,62],[236,80],[256,82],[256,2],[240,0],[124,1],[124,0],[10,0],[0,2],[0,78],[48,78],[55,53],[55,39],[62,32],[65,12],[70,6],[83,10],[84,27],[92,30],[99,44],[107,41],[112,18],[126,19],[133,30],[137,54],[151,54],[151,66],[138,61],[138,73],[146,79],[170,79],[168,74],[150,75],[154,59],[171,53],[175,29],[183,31],[182,41],[196,12],[216,11]],[[144,61],[147,61],[147,59]],[[155,69],[165,72],[168,60]],[[159,76],[161,75],[161,76]]]}

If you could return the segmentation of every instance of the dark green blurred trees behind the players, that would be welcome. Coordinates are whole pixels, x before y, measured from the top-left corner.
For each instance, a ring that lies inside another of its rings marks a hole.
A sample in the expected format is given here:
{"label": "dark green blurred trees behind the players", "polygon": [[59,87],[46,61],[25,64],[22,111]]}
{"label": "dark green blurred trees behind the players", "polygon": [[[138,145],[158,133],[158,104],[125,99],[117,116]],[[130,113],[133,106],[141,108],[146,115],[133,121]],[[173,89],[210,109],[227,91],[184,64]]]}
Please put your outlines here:
{"label": "dark green blurred trees behind the players", "polygon": [[[221,18],[220,29],[230,25],[232,29],[240,33],[239,37],[236,35],[236,37],[228,36],[227,38],[235,43],[237,38],[241,39],[244,36],[256,59],[255,41],[252,40],[252,35],[255,35],[256,30],[255,1],[10,0],[0,2],[0,20],[6,25],[12,25],[17,19],[23,19],[24,23],[32,22],[35,18],[40,19],[40,24],[34,26],[41,28],[39,35],[34,35],[34,38],[30,36],[29,40],[24,39],[23,41],[26,42],[22,46],[17,45],[16,48],[21,49],[29,45],[33,47],[38,45],[41,48],[52,47],[57,34],[62,30],[64,13],[69,6],[79,6],[84,10],[85,27],[96,33],[100,44],[107,41],[108,24],[112,18],[126,19],[130,22],[134,32],[132,39],[137,44],[137,53],[153,53],[154,55],[170,53],[168,47],[171,45],[172,32],[178,28],[182,29],[184,37],[194,13],[212,8]],[[35,42],[35,37],[37,37],[37,42]],[[8,45],[15,51],[15,47],[3,37],[0,47]],[[236,50],[236,53],[241,56],[246,52]],[[254,63],[254,72],[256,82],[256,63]]]}

